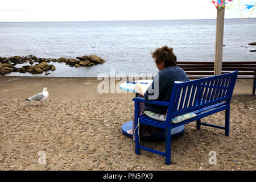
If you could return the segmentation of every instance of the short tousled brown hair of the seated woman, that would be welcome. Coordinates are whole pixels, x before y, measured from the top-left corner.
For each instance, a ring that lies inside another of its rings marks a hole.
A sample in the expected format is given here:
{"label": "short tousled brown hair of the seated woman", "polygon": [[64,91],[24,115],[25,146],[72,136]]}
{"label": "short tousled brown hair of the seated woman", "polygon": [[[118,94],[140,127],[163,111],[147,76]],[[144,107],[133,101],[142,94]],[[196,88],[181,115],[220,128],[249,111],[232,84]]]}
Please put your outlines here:
{"label": "short tousled brown hair of the seated woman", "polygon": [[172,50],[172,47],[169,48],[167,46],[164,46],[152,52],[152,57],[155,59],[155,63],[161,64],[164,62],[164,68],[176,66],[177,57]]}

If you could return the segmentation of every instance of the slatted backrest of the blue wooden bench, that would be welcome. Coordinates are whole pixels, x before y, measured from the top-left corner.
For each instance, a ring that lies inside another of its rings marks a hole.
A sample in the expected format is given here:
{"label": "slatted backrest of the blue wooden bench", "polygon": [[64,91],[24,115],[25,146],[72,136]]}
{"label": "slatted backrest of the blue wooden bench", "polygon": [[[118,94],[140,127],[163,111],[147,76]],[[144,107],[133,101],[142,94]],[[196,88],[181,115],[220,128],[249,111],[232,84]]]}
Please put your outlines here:
{"label": "slatted backrest of the blue wooden bench", "polygon": [[226,101],[230,103],[238,72],[174,84],[168,119]]}

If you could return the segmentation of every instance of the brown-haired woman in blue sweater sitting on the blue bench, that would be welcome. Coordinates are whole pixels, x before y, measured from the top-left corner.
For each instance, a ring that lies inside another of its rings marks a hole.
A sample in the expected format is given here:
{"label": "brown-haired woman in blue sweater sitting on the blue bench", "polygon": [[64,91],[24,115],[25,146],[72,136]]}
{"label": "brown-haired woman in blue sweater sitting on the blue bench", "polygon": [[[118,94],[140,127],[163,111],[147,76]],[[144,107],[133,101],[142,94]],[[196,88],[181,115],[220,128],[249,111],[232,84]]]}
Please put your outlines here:
{"label": "brown-haired woman in blue sweater sitting on the blue bench", "polygon": [[[152,57],[155,59],[155,65],[159,72],[153,79],[151,86],[148,87],[146,92],[139,92],[137,97],[144,98],[145,100],[154,101],[170,101],[172,85],[175,81],[189,81],[187,74],[180,67],[176,66],[177,57],[175,56],[172,48],[164,46],[162,48],[156,49],[152,52]],[[135,90],[138,85],[135,86]],[[167,107],[144,104],[140,103],[139,114],[144,114],[144,111],[152,111],[154,113],[166,114]],[[127,131],[128,134],[132,134],[134,137],[134,115],[133,115],[133,129]],[[156,127],[148,125],[140,125],[140,136],[146,137],[148,135],[154,134],[156,132]]]}

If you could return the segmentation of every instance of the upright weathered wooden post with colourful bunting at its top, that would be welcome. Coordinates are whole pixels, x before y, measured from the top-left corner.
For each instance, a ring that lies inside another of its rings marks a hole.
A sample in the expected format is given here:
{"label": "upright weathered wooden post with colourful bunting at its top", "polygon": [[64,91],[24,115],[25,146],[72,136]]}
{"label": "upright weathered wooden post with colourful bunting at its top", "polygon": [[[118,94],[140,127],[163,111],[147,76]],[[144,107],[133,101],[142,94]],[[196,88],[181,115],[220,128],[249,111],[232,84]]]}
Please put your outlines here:
{"label": "upright weathered wooden post with colourful bunting at its top", "polygon": [[[223,3],[225,3],[225,0],[223,1]],[[224,14],[225,6],[221,9],[217,9],[214,75],[220,75],[222,70]]]}

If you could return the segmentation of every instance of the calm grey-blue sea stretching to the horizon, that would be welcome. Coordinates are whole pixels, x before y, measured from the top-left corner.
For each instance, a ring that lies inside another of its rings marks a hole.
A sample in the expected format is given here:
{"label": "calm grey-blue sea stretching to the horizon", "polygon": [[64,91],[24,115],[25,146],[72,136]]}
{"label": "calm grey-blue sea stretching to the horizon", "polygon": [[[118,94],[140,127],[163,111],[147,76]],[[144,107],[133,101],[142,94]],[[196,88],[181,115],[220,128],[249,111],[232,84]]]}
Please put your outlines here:
{"label": "calm grey-blue sea stretching to the horizon", "polygon": [[[50,76],[85,77],[157,73],[151,52],[170,46],[178,60],[214,60],[216,20],[147,20],[117,22],[0,22],[0,56],[35,55],[75,58],[98,55],[106,63],[90,68],[51,63]],[[256,18],[225,19],[223,60],[255,61]],[[9,76],[45,76],[10,73]]]}

